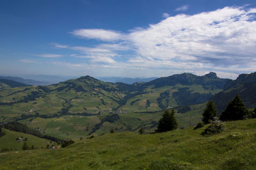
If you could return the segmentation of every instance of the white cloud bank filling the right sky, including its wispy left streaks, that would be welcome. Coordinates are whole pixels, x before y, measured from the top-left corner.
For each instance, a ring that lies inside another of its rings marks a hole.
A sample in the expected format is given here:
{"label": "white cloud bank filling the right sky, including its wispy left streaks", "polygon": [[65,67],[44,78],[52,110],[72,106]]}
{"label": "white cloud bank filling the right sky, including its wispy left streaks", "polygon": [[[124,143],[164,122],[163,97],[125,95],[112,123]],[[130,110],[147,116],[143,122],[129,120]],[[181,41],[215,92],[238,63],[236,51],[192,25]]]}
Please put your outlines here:
{"label": "white cloud bank filling the right sky, including its wispy left streaks", "polygon": [[[188,6],[177,8],[182,10],[188,10]],[[77,29],[73,35],[107,43],[94,47],[58,46],[76,50],[79,54],[72,57],[89,59],[97,68],[126,69],[126,72],[143,69],[152,76],[159,76],[153,73],[163,70],[167,75],[181,72],[202,75],[212,70],[230,78],[237,76],[235,72],[255,71],[256,8],[225,7],[195,15],[165,13],[163,17],[157,24],[127,34]],[[133,56],[127,57],[127,52]],[[117,60],[125,57],[125,61]]]}

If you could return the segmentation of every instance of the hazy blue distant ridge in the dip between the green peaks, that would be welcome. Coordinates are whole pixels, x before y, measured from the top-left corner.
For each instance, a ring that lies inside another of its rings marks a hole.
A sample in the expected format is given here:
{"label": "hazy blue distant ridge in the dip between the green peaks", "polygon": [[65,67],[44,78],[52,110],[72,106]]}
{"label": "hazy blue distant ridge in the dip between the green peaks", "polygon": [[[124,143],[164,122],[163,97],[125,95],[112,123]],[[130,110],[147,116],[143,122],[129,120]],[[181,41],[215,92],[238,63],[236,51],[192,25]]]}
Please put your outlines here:
{"label": "hazy blue distant ridge in the dip between the green peaks", "polygon": [[123,82],[125,84],[133,84],[134,82],[148,82],[152,81],[154,79],[157,79],[157,77],[148,77],[148,78],[142,78],[142,77],[136,77],[136,78],[128,78],[128,77],[96,77],[100,81],[104,82]]}

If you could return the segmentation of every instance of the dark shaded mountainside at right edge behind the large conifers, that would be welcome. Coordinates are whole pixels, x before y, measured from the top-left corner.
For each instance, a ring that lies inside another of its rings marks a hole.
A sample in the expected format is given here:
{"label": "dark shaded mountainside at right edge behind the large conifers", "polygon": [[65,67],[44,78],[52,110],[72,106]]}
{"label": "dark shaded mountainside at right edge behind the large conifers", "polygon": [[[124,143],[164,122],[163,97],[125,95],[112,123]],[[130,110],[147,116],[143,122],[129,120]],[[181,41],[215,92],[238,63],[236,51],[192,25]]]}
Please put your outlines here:
{"label": "dark shaded mountainside at right edge behind the large conifers", "polygon": [[236,94],[241,97],[246,107],[252,108],[256,106],[256,72],[250,74],[243,73],[236,80],[227,81],[224,91],[212,97],[212,100],[218,106],[218,111],[223,111],[228,102],[236,97]]}

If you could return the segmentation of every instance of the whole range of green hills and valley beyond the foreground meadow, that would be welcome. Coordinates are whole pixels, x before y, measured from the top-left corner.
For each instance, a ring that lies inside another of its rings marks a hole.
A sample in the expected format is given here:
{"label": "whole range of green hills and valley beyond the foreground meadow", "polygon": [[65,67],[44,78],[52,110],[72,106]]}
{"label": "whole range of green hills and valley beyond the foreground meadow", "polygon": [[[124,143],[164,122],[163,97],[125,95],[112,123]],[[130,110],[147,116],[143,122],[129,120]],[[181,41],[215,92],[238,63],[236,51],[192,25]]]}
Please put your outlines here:
{"label": "whole range of green hills and valley beyond the foreground meadow", "polygon": [[147,131],[156,128],[164,109],[173,108],[184,128],[200,121],[207,100],[214,100],[221,112],[238,93],[246,107],[255,107],[255,77],[242,74],[232,81],[213,72],[181,73],[125,84],[83,76],[49,86],[15,87],[2,81],[0,121],[20,121],[56,137],[78,137],[110,128],[136,131],[145,126]]}

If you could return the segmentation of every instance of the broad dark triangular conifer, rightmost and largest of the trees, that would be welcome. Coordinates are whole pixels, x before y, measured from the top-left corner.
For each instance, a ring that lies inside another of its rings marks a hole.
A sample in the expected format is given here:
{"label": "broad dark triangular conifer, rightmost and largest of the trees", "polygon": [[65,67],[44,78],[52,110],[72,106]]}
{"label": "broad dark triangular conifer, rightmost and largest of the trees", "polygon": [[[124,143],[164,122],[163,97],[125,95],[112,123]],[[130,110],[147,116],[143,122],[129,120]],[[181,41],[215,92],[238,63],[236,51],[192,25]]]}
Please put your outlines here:
{"label": "broad dark triangular conifer, rightmost and largest of the trees", "polygon": [[226,109],[221,112],[220,120],[243,120],[246,118],[248,110],[246,109],[243,101],[236,95],[227,105]]}

